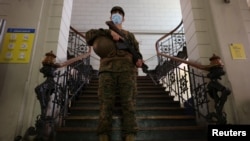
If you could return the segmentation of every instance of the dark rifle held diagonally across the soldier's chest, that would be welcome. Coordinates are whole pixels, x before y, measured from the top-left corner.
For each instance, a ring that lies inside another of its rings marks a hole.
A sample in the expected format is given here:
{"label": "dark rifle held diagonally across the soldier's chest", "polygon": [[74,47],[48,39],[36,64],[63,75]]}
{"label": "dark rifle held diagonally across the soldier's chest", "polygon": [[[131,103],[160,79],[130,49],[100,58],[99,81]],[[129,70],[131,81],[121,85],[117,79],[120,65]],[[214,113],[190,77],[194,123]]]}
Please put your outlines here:
{"label": "dark rifle held diagonally across the soldier's chest", "polygon": [[[131,41],[129,39],[127,39],[127,37],[125,36],[125,34],[119,30],[115,24],[113,23],[113,21],[106,21],[106,24],[109,26],[109,29],[113,30],[114,32],[116,32],[117,34],[119,34],[122,37],[122,41],[125,44],[126,48],[128,49],[128,51],[132,54],[133,56],[133,61],[136,62],[138,59],[142,59],[142,56],[139,55],[135,49],[133,48]],[[142,71],[144,73],[148,73],[148,66],[143,63],[142,64]]]}

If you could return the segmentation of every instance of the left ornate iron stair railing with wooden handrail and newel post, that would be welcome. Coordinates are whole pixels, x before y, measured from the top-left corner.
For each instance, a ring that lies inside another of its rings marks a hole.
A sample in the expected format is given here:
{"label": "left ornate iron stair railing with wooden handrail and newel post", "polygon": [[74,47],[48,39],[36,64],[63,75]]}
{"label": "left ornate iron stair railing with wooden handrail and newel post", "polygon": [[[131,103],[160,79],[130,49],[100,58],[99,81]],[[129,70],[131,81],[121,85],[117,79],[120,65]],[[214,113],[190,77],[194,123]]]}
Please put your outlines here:
{"label": "left ornate iron stair railing with wooden handrail and newel post", "polygon": [[85,36],[73,27],[70,29],[68,60],[56,63],[56,56],[51,51],[42,61],[40,72],[46,79],[35,88],[41,108],[35,127],[31,126],[24,137],[17,136],[15,140],[25,140],[30,135],[35,135],[35,140],[53,140],[55,127],[64,126],[63,119],[68,116],[71,103],[82,94],[82,89],[93,76],[91,49]]}

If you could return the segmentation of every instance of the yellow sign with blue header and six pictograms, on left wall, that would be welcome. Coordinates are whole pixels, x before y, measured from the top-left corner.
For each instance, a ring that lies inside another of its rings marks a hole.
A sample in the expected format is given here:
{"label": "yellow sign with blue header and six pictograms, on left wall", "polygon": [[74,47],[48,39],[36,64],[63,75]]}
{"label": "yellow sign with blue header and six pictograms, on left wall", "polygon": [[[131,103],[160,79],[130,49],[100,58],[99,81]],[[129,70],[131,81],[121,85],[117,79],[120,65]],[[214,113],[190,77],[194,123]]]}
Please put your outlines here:
{"label": "yellow sign with blue header and six pictograms, on left wall", "polygon": [[8,28],[5,34],[0,63],[29,63],[35,29]]}

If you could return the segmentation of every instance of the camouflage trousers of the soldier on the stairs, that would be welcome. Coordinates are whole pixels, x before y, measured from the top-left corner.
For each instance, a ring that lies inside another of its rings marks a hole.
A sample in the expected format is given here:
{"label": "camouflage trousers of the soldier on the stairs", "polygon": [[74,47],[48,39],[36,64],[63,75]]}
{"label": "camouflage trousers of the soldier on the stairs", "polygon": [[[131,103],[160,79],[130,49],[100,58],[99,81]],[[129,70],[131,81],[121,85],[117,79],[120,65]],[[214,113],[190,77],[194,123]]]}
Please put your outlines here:
{"label": "camouflage trousers of the soldier on the stairs", "polygon": [[119,97],[122,109],[123,134],[136,134],[138,127],[135,115],[136,74],[131,72],[102,72],[99,74],[98,97],[100,115],[98,134],[110,135],[114,106]]}

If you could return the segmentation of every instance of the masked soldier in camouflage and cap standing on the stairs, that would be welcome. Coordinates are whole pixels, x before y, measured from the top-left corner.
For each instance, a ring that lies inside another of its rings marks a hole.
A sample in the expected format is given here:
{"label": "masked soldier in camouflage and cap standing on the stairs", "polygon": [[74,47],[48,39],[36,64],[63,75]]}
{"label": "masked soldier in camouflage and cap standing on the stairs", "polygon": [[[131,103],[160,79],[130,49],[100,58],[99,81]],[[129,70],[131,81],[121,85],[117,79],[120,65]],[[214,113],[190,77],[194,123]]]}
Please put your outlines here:
{"label": "masked soldier in camouflage and cap standing on the stairs", "polygon": [[[134,34],[122,28],[125,16],[123,8],[115,6],[110,13],[110,19],[127,36],[141,56]],[[125,141],[134,141],[138,131],[135,116],[136,76],[137,68],[142,67],[143,60],[133,60],[132,54],[121,39],[119,34],[110,29],[90,29],[86,32],[88,45],[93,46],[94,52],[100,57],[98,88],[100,115],[97,129],[100,141],[110,139],[117,94],[122,108],[122,131]]]}

